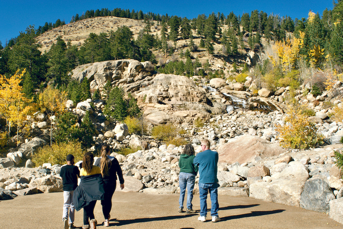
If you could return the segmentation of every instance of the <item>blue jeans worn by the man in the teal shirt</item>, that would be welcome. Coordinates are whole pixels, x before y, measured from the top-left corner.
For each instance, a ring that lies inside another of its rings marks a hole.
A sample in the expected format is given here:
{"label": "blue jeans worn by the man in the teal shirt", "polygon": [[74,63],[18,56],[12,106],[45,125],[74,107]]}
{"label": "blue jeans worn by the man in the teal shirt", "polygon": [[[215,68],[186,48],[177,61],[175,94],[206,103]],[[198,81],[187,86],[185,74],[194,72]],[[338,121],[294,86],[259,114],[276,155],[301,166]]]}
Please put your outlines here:
{"label": "blue jeans worn by the man in the teal shirt", "polygon": [[210,193],[211,198],[211,216],[218,216],[218,184],[204,184],[199,183],[200,194],[200,216],[206,216],[207,214],[207,194]]}

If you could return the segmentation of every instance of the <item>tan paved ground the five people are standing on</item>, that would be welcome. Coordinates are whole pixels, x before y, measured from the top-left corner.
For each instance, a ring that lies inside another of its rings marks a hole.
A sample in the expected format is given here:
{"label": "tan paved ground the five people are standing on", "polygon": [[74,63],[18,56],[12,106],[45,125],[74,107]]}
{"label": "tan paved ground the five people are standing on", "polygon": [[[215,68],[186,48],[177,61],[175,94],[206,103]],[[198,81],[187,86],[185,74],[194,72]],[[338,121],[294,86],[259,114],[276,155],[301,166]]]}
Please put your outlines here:
{"label": "tan paved ground the five people are standing on", "polygon": [[[327,214],[308,211],[248,197],[219,196],[222,221],[197,220],[199,214],[178,212],[179,195],[151,195],[115,192],[110,226],[118,229],[221,229],[221,228],[343,228]],[[61,229],[63,193],[18,196],[0,201],[0,229]],[[208,206],[210,199],[208,198]],[[193,209],[199,210],[199,195],[194,195]],[[99,229],[104,220],[100,201],[94,210]],[[75,213],[75,226],[82,226],[83,210]]]}

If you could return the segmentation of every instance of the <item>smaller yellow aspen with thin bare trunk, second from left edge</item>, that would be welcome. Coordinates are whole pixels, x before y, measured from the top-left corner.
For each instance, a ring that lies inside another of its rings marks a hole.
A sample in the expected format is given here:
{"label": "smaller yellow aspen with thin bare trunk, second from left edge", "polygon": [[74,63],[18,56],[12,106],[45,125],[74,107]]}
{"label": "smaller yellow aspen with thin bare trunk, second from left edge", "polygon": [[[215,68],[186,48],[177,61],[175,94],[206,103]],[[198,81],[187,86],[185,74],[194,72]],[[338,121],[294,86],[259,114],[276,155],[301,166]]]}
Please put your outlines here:
{"label": "smaller yellow aspen with thin bare trunk, second from left edge", "polygon": [[[39,94],[39,106],[46,112],[50,119],[50,145],[52,143],[54,119],[64,113],[67,101],[67,93],[56,88],[47,86],[43,93]],[[55,117],[54,117],[55,116]]]}

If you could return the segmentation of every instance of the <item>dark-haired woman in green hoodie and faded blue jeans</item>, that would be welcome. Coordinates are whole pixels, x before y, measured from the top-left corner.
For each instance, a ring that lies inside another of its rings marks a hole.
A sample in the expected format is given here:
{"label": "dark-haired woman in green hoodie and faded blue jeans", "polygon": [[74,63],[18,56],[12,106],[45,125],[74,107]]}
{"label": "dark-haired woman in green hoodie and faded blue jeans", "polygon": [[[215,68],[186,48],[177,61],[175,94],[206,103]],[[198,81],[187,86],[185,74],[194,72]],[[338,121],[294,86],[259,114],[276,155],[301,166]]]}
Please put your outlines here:
{"label": "dark-haired woman in green hoodie and faded blue jeans", "polygon": [[195,157],[194,148],[192,145],[185,145],[184,152],[180,155],[179,167],[179,186],[180,186],[180,198],[179,198],[179,212],[183,212],[184,199],[187,187],[187,213],[195,213],[192,208],[193,189],[195,184],[195,176],[198,173],[198,166],[193,164]]}

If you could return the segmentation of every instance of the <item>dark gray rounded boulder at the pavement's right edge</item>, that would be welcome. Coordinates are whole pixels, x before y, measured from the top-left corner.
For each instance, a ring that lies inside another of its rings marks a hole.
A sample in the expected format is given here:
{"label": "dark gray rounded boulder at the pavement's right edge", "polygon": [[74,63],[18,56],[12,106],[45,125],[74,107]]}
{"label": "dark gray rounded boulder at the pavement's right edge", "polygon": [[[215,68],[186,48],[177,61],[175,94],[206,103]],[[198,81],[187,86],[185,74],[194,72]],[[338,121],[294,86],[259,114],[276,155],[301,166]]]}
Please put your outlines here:
{"label": "dark gray rounded boulder at the pavement's right edge", "polygon": [[306,181],[300,197],[300,207],[311,211],[329,212],[329,202],[335,199],[332,189],[322,179]]}

